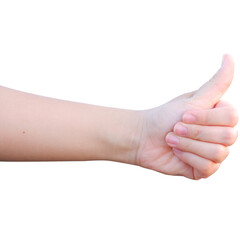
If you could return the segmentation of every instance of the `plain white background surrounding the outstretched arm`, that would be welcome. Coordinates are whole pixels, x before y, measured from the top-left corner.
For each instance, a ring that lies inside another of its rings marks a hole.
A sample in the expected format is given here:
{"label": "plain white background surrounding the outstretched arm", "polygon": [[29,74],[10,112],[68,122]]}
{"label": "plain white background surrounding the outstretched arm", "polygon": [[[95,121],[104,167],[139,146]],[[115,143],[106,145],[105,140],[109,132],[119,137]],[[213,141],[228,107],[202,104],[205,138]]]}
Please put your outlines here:
{"label": "plain white background surrounding the outstretched arm", "polygon": [[[0,85],[147,109],[199,88],[224,53],[239,109],[239,1],[0,1]],[[192,181],[127,164],[0,162],[0,239],[240,239],[239,141]]]}

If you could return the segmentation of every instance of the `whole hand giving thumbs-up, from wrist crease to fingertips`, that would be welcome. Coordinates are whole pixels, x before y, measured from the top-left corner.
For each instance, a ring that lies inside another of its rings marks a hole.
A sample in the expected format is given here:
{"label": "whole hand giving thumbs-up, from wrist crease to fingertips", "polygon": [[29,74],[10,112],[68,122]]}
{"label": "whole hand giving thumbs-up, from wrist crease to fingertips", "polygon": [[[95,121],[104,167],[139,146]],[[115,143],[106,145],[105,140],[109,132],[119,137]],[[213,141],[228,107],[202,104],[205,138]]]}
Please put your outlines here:
{"label": "whole hand giving thumbs-up, from wrist crease to fingertips", "polygon": [[[232,82],[233,72],[233,60],[225,55],[220,70],[200,89],[144,110],[136,164],[190,179],[213,174],[227,157],[227,146],[237,138],[233,129],[237,112],[219,101]],[[195,120],[188,118],[190,113]],[[185,134],[180,130],[183,124],[187,127]],[[176,136],[179,143],[170,143],[171,136]]]}

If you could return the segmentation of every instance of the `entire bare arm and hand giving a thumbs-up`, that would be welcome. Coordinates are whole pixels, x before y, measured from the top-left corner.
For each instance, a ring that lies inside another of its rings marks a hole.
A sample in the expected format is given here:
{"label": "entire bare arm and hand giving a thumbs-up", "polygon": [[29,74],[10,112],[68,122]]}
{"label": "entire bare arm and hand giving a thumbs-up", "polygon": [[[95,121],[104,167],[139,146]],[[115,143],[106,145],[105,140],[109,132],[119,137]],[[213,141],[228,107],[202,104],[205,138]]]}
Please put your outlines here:
{"label": "entire bare arm and hand giving a thumbs-up", "polygon": [[198,90],[147,110],[71,102],[0,86],[0,160],[110,160],[167,175],[207,178],[238,135],[237,111],[220,100],[233,73],[233,60],[225,55],[219,71]]}

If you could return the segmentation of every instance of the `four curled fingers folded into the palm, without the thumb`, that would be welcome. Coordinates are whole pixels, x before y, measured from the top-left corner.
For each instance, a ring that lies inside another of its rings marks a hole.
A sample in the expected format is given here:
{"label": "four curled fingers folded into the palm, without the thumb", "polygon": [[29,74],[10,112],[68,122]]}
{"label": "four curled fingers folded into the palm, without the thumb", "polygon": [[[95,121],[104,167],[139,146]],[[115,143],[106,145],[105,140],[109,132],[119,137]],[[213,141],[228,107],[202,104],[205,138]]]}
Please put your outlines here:
{"label": "four curled fingers folded into the palm, without the thumb", "polygon": [[187,111],[166,136],[177,158],[193,168],[195,179],[217,171],[229,154],[228,146],[238,136],[234,129],[238,114],[233,106],[220,101],[209,110]]}

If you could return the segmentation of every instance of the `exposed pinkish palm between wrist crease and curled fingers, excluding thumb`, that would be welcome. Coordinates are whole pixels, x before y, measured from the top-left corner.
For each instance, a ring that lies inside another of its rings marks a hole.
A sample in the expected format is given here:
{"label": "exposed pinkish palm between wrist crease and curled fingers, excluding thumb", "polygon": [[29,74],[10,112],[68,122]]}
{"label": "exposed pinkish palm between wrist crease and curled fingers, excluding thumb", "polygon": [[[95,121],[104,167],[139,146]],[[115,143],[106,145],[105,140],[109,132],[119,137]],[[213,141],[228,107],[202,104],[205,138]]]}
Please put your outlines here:
{"label": "exposed pinkish palm between wrist crease and curled fingers, excluding thumb", "polygon": [[181,121],[184,112],[202,108],[191,100],[192,95],[193,93],[181,95],[145,112],[145,127],[137,156],[140,166],[165,174],[192,178],[192,167],[178,159],[165,142],[165,136]]}

